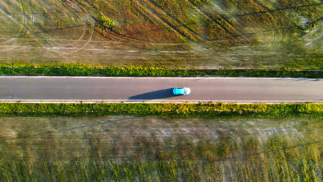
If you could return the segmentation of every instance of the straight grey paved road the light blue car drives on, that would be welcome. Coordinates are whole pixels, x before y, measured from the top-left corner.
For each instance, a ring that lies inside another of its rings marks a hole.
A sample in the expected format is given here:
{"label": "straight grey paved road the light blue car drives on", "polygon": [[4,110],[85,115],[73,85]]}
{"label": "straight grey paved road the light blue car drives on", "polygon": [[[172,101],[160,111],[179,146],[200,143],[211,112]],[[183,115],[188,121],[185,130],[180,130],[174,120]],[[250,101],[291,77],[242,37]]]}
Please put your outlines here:
{"label": "straight grey paved road the light blue car drives on", "polygon": [[[188,96],[172,88],[189,87]],[[7,100],[8,99],[8,100]],[[323,102],[323,79],[0,77],[2,101]]]}

